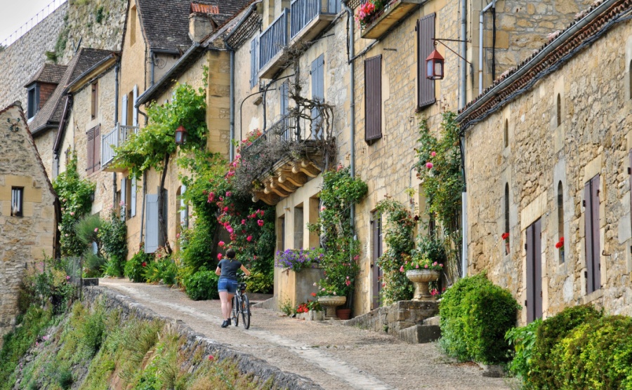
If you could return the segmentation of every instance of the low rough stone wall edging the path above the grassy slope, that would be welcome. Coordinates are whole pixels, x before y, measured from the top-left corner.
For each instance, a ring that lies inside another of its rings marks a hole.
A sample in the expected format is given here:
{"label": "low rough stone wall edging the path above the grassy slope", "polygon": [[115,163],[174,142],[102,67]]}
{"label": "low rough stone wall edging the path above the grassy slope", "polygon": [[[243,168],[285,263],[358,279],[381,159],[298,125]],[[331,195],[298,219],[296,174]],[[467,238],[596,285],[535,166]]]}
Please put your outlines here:
{"label": "low rough stone wall edging the path above the grassy slope", "polygon": [[103,303],[105,309],[107,309],[108,311],[120,310],[122,320],[126,320],[131,316],[136,316],[136,318],[140,318],[146,321],[160,320],[166,323],[171,323],[173,325],[173,330],[178,332],[178,334],[182,335],[183,337],[186,337],[187,342],[185,344],[185,349],[193,351],[197,347],[202,347],[206,354],[213,355],[216,359],[220,361],[224,359],[235,361],[240,372],[244,374],[252,374],[255,377],[263,379],[264,382],[268,379],[271,379],[272,385],[275,386],[275,388],[290,390],[322,389],[317,384],[311,382],[308,378],[291,374],[289,372],[284,372],[282,370],[279,370],[278,368],[272,367],[260,358],[256,358],[249,354],[243,354],[242,352],[232,350],[225,345],[216,342],[213,339],[209,339],[208,337],[193,331],[185,323],[183,323],[183,321],[159,316],[154,311],[134,302],[133,300],[131,300],[131,298],[124,295],[119,295],[117,294],[117,292],[107,290],[107,288],[84,288],[83,300],[84,303],[88,306],[94,304],[95,302],[97,302],[97,300],[100,300],[100,302]]}

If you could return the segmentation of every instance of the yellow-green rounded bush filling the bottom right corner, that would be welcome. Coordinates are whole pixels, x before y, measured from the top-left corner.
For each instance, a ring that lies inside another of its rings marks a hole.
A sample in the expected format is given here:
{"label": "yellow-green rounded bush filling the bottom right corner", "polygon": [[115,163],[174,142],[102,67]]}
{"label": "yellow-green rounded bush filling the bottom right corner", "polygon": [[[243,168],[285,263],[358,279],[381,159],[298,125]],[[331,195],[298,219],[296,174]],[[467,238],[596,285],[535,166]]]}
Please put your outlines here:
{"label": "yellow-green rounded bush filling the bottom right corner", "polygon": [[632,318],[604,316],[579,325],[555,345],[551,359],[558,370],[543,388],[632,389]]}

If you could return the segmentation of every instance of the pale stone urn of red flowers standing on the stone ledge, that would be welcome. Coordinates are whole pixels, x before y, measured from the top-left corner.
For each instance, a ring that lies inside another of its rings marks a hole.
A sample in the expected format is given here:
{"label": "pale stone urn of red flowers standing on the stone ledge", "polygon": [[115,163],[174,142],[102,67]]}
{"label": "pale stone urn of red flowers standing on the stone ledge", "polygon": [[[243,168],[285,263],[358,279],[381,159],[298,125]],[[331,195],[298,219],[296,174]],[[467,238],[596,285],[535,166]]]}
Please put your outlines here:
{"label": "pale stone urn of red flowers standing on the stone ledge", "polygon": [[414,301],[435,300],[435,294],[431,294],[428,283],[439,280],[443,271],[443,263],[433,262],[420,250],[415,250],[412,257],[407,257],[400,272],[406,272],[415,285]]}

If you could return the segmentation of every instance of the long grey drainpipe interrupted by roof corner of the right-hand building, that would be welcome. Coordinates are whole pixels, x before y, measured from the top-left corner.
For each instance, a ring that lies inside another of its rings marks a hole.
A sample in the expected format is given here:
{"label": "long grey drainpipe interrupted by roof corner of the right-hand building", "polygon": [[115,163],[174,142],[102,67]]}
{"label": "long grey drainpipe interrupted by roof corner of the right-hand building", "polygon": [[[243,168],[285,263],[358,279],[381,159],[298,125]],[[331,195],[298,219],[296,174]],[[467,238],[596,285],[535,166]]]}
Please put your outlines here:
{"label": "long grey drainpipe interrupted by roof corner of the right-hand building", "polygon": [[[468,51],[468,3],[461,0],[461,93],[459,109],[466,106],[468,64],[465,60]],[[465,176],[465,134],[461,134],[461,169],[463,170],[463,191],[461,192],[461,276],[468,274],[468,189]]]}

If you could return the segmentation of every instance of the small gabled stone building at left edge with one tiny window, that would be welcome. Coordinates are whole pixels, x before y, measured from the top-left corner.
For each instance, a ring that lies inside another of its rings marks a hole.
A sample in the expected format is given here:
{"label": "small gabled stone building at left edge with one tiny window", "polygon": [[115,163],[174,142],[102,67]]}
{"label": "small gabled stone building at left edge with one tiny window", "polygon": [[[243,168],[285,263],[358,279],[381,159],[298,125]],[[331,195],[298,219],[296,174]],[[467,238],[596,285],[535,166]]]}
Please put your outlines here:
{"label": "small gabled stone building at left edge with one tiny window", "polygon": [[28,267],[54,256],[59,201],[20,102],[0,110],[0,336],[18,314]]}

